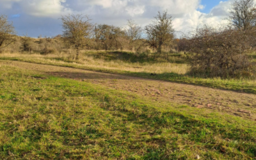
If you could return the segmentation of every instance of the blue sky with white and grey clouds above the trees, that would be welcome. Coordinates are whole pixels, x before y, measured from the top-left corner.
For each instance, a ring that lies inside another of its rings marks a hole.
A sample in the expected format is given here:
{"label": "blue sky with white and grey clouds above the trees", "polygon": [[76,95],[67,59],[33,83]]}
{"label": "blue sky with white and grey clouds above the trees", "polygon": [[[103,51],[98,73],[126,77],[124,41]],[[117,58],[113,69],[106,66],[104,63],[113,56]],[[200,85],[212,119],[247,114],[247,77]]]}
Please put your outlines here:
{"label": "blue sky with white and grey clouds above the trees", "polygon": [[61,34],[61,15],[83,13],[97,24],[125,27],[127,19],[141,26],[157,12],[168,10],[175,30],[221,24],[234,0],[0,0],[0,14],[8,15],[18,35],[37,37]]}

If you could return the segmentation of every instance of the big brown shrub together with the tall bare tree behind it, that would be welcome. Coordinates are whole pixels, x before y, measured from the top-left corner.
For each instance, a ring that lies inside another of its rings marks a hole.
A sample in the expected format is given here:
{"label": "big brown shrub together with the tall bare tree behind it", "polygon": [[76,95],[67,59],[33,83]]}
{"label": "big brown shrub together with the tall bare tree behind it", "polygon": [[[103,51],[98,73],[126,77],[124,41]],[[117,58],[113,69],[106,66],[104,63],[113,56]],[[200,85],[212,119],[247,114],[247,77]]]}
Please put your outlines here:
{"label": "big brown shrub together with the tall bare tree behind it", "polygon": [[256,63],[248,56],[255,51],[254,1],[234,1],[228,20],[229,26],[204,26],[178,40],[178,49],[188,53],[192,75],[255,79]]}

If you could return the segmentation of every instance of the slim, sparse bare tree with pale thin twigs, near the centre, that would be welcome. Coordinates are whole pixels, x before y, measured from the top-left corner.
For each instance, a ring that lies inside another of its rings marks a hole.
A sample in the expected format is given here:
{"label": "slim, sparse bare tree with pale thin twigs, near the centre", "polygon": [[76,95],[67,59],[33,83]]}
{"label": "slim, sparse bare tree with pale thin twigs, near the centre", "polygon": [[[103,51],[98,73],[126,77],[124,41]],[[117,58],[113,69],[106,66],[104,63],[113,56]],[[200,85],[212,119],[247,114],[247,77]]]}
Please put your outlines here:
{"label": "slim, sparse bare tree with pale thin twigs, near the centre", "polygon": [[129,45],[131,46],[132,50],[138,50],[138,48],[140,48],[140,45],[138,46],[137,44],[139,44],[138,40],[141,40],[143,38],[143,29],[132,19],[127,20],[127,26],[128,28],[126,29],[125,34],[129,39]]}

